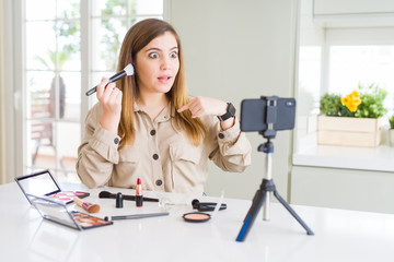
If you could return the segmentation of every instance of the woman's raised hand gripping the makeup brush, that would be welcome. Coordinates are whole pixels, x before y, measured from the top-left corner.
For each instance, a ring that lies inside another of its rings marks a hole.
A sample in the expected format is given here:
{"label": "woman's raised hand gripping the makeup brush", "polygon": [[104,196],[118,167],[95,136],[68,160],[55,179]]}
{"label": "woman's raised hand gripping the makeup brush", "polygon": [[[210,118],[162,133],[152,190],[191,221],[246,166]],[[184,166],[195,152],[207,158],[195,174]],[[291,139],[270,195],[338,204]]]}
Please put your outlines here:
{"label": "woman's raised hand gripping the makeup brush", "polygon": [[117,133],[121,112],[123,93],[116,87],[115,83],[108,83],[108,79],[103,78],[97,85],[96,97],[103,107],[103,116],[100,121],[102,128]]}

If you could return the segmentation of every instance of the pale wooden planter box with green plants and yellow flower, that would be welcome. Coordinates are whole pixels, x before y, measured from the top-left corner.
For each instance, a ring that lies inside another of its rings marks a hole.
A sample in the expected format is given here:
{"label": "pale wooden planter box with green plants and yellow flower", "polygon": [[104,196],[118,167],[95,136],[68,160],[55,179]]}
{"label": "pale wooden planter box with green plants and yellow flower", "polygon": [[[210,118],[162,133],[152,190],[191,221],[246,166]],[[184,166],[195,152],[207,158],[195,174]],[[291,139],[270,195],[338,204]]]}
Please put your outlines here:
{"label": "pale wooden planter box with green plants and yellow flower", "polygon": [[325,145],[378,146],[380,118],[386,114],[387,93],[375,84],[362,86],[346,96],[325,94],[320,100],[317,143]]}

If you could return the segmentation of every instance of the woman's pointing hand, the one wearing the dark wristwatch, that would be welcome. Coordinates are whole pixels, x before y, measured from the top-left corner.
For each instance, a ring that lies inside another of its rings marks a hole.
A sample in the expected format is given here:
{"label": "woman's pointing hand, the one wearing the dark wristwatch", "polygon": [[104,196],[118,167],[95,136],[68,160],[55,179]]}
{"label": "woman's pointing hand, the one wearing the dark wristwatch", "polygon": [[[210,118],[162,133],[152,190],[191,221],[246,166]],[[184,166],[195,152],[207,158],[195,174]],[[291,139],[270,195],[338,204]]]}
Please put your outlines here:
{"label": "woman's pointing hand, the one wearing the dark wristwatch", "polygon": [[[222,116],[227,112],[228,104],[222,100],[215,98],[197,96],[192,99],[188,104],[181,107],[177,111],[182,112],[184,110],[190,110],[192,118],[202,117],[202,116]],[[225,121],[220,122],[221,128],[227,130],[234,124],[234,118],[229,118]]]}

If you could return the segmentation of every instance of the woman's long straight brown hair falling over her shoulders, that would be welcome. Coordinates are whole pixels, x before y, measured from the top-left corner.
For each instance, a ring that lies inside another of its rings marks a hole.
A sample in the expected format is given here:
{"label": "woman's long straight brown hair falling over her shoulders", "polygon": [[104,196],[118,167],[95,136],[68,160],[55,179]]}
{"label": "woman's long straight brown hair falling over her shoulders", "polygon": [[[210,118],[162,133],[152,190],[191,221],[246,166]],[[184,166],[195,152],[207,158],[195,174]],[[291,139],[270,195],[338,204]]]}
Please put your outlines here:
{"label": "woman's long straight brown hair falling over her shoulders", "polygon": [[[127,64],[135,63],[137,52],[146,47],[155,37],[170,32],[174,35],[178,46],[179,71],[175,78],[174,84],[166,96],[171,105],[175,108],[174,123],[184,131],[194,145],[199,145],[204,136],[207,134],[204,123],[192,118],[189,110],[176,112],[176,109],[189,102],[186,90],[184,60],[181,48],[181,40],[175,29],[165,21],[157,19],[147,19],[135,24],[126,34],[121,44],[119,62],[117,70],[123,70]],[[138,74],[138,72],[136,72]],[[118,133],[121,138],[119,147],[121,148],[128,143],[135,141],[135,123],[134,123],[134,100],[138,96],[138,83],[135,75],[124,78],[117,83],[118,88],[123,92],[121,116],[118,127]]]}

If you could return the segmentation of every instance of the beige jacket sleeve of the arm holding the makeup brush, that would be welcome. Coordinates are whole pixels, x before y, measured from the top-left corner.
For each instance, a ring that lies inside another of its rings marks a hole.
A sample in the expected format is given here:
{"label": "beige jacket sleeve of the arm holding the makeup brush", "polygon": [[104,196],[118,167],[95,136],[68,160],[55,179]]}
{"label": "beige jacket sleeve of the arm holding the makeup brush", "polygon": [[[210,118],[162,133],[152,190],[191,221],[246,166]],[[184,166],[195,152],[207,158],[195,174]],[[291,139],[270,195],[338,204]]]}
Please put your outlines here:
{"label": "beige jacket sleeve of the arm holding the makeup brush", "polygon": [[101,127],[101,116],[99,104],[88,112],[84,138],[78,147],[77,172],[89,188],[106,184],[111,179],[114,164],[119,162],[120,138]]}

